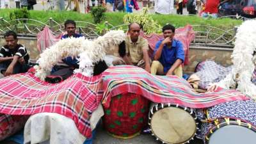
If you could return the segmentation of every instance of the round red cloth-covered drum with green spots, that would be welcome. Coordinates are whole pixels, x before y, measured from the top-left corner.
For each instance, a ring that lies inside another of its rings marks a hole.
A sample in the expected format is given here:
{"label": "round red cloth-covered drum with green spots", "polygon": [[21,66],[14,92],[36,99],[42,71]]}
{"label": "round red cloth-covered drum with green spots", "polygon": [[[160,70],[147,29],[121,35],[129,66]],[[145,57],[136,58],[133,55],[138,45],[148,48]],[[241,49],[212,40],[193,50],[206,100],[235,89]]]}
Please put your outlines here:
{"label": "round red cloth-covered drum with green spots", "polygon": [[111,98],[104,108],[104,127],[115,138],[133,138],[147,125],[148,99],[134,93],[123,93]]}

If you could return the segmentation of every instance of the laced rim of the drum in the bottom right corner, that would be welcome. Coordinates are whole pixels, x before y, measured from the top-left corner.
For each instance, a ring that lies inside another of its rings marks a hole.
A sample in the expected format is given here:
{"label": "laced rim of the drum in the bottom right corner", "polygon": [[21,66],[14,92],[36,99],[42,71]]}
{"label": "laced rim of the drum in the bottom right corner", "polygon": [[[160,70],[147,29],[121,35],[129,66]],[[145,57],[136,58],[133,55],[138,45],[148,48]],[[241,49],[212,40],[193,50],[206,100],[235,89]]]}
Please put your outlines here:
{"label": "laced rim of the drum in the bottom right corner", "polygon": [[[225,120],[225,118],[228,118],[229,122]],[[205,134],[205,142],[208,144],[209,140],[211,138],[211,135],[214,133],[214,131],[217,131],[221,127],[225,127],[227,125],[239,125],[242,127],[246,127],[254,132],[256,132],[256,127],[255,125],[250,124],[250,122],[246,122],[245,120],[241,120],[239,118],[232,118],[232,117],[221,117],[221,118],[216,118],[216,120],[223,120],[223,122],[220,122],[220,124],[214,124],[214,126],[210,127],[209,131],[207,134]],[[228,124],[229,123],[229,124]]]}

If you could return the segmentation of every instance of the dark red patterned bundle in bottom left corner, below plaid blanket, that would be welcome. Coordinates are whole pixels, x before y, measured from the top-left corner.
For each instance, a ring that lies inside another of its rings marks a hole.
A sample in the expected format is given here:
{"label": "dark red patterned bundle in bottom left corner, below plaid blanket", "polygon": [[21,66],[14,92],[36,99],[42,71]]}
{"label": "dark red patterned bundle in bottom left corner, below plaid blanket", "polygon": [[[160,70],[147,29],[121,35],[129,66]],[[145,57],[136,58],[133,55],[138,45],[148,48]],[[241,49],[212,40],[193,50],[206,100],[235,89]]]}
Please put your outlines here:
{"label": "dark red patterned bundle in bottom left corner, below plaid blanket", "polygon": [[0,141],[20,131],[28,118],[29,116],[0,114]]}

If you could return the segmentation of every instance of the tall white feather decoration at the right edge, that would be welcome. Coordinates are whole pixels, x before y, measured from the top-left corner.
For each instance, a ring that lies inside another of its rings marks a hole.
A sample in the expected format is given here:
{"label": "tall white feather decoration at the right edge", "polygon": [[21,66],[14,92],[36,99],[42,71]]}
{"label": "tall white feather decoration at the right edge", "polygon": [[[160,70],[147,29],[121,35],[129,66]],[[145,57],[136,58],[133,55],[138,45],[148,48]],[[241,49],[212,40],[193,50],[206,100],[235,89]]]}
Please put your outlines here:
{"label": "tall white feather decoration at the right edge", "polygon": [[232,72],[218,85],[230,88],[237,83],[237,90],[255,99],[256,86],[251,81],[255,69],[255,58],[252,55],[255,49],[256,20],[246,20],[237,29],[235,47],[231,55],[234,64]]}

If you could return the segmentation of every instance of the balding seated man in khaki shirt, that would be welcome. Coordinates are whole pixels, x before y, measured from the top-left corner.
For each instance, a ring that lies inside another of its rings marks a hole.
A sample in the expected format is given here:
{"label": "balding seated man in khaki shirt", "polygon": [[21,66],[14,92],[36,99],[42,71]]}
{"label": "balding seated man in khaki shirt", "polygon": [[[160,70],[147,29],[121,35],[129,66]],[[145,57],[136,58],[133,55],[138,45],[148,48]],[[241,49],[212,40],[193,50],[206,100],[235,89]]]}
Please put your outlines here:
{"label": "balding seated man in khaki shirt", "polygon": [[122,60],[113,61],[113,65],[136,65],[150,72],[148,42],[140,36],[140,25],[129,24],[128,34],[125,37],[125,54]]}

